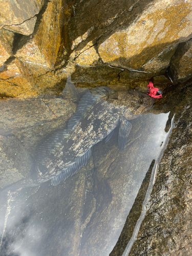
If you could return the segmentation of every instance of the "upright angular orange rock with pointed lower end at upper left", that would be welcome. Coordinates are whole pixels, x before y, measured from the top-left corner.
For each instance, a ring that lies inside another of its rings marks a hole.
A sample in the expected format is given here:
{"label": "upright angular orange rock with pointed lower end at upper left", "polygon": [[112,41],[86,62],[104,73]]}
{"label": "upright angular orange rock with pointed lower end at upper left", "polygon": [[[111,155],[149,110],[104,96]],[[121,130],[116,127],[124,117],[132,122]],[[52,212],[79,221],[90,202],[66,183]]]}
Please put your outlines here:
{"label": "upright angular orange rock with pointed lower end at upper left", "polygon": [[34,36],[31,36],[22,48],[15,50],[15,56],[36,78],[54,68],[61,41],[60,22],[63,16],[61,7],[61,0],[49,2]]}

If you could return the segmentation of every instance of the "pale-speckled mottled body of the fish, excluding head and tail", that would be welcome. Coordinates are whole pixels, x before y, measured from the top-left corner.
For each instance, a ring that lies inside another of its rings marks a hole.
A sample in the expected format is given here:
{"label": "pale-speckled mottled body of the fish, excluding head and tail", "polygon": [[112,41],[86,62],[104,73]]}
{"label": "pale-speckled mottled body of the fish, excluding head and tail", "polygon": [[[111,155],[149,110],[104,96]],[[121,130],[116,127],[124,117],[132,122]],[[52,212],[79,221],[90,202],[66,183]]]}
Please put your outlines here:
{"label": "pale-speckled mottled body of the fish, excluding head and tail", "polygon": [[[73,165],[77,159],[81,158],[90,148],[108,136],[120,124],[120,117],[123,112],[128,114],[122,107],[111,104],[86,93],[81,99],[82,104],[86,99],[95,100],[90,108],[73,124],[77,113],[69,120],[68,129],[56,133],[40,146],[37,171],[39,178],[48,179],[61,173],[69,166]],[[81,103],[79,104],[81,108]],[[133,114],[129,112],[130,119]]]}

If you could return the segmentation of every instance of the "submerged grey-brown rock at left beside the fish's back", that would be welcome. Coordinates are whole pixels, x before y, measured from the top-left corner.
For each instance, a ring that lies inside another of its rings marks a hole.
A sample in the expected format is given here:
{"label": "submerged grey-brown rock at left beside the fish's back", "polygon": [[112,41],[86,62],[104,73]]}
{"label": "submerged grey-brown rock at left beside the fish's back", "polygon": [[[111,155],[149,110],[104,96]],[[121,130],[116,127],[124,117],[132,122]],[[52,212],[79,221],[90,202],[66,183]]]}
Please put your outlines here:
{"label": "submerged grey-brown rock at left beside the fish's back", "polygon": [[0,108],[0,186],[5,187],[17,181],[14,177],[30,174],[29,159],[36,146],[47,135],[65,127],[76,104],[69,99],[44,96],[0,101]]}

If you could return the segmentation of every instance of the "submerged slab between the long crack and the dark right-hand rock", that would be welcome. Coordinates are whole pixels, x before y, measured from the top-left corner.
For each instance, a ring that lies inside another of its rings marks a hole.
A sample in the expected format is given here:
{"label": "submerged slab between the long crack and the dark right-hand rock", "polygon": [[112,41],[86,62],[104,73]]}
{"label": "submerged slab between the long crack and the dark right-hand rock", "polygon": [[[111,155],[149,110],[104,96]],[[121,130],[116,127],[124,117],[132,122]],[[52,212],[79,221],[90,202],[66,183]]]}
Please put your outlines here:
{"label": "submerged slab between the long crack and the dark right-hand rock", "polygon": [[[155,127],[163,127],[166,118],[167,114],[144,114],[132,120],[133,130],[124,151],[118,151],[117,148],[118,131],[112,141],[105,145],[99,143],[93,148],[95,170],[92,189],[96,209],[83,231],[80,256],[86,253],[104,256],[112,251],[142,180],[152,160],[159,154],[160,147],[157,144],[161,143],[161,139],[154,142],[154,138],[161,135]],[[150,123],[150,129],[147,123]],[[86,200],[91,201],[88,196]],[[94,209],[93,199],[89,205]]]}

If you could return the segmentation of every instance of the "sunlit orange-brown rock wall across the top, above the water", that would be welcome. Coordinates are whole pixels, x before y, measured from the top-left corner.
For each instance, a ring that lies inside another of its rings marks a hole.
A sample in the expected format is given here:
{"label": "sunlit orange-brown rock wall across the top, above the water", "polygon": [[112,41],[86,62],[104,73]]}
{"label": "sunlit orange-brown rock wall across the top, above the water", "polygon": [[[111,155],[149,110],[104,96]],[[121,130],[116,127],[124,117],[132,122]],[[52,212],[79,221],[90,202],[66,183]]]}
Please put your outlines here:
{"label": "sunlit orange-brown rock wall across the top, above the water", "polygon": [[[12,2],[1,9],[0,72],[6,84],[1,97],[59,93],[69,74],[80,87],[129,88],[169,70],[175,82],[191,76],[190,1],[60,0],[18,5],[16,14]],[[17,58],[19,69],[11,78],[6,77],[12,69],[10,57]]]}

